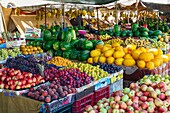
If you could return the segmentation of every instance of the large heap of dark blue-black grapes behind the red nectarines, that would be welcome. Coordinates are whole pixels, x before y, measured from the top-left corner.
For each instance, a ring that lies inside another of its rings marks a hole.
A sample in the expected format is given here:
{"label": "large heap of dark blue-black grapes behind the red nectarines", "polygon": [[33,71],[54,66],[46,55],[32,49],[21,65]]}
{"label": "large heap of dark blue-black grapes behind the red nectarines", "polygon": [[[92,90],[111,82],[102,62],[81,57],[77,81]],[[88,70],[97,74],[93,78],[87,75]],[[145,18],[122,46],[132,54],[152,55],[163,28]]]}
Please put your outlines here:
{"label": "large heap of dark blue-black grapes behind the red nectarines", "polygon": [[41,68],[39,65],[44,64],[45,61],[37,60],[33,55],[17,56],[15,58],[8,58],[5,66],[8,68],[14,68],[21,70],[22,72],[31,72],[33,74],[40,74]]}

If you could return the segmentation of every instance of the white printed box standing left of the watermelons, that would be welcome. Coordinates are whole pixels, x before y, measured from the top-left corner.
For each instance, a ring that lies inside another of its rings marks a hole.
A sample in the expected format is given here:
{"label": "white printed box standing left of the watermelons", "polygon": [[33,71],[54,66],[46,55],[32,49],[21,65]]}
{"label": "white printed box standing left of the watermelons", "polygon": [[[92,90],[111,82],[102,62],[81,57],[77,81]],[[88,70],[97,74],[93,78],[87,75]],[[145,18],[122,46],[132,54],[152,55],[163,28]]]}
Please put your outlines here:
{"label": "white printed box standing left of the watermelons", "polygon": [[25,37],[26,38],[40,38],[41,37],[41,29],[26,28]]}

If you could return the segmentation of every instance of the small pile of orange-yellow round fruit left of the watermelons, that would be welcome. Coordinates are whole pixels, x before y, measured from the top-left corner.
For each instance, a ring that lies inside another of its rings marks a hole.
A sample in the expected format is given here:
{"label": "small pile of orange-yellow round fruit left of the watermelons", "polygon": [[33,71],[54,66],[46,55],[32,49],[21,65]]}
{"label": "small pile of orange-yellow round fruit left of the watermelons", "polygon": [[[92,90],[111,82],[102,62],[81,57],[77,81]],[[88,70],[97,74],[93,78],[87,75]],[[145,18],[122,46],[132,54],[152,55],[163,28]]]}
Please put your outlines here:
{"label": "small pile of orange-yellow round fruit left of the watermelons", "polygon": [[24,55],[43,53],[43,50],[41,49],[41,47],[21,45],[20,49],[21,49],[22,54]]}

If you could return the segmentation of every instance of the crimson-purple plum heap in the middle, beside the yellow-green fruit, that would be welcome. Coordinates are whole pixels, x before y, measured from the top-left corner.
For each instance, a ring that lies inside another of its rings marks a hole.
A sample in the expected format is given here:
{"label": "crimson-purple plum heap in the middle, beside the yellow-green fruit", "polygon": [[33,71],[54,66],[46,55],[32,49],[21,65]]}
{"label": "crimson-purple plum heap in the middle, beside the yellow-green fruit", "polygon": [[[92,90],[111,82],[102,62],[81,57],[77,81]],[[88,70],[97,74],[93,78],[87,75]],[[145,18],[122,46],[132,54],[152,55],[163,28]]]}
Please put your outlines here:
{"label": "crimson-purple plum heap in the middle, beside the yellow-green fruit", "polygon": [[73,88],[80,88],[93,81],[93,77],[88,76],[85,72],[80,72],[78,68],[57,70],[50,67],[44,71],[44,76],[46,81],[56,81],[62,86],[71,85]]}

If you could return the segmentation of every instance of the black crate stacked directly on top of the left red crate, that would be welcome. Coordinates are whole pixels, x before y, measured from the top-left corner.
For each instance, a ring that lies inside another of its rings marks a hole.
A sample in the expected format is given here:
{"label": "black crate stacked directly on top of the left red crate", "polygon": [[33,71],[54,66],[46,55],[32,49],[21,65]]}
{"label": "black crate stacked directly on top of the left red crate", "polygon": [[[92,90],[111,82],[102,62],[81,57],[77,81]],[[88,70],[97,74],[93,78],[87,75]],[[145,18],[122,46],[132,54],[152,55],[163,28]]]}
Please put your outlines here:
{"label": "black crate stacked directly on top of the left red crate", "polygon": [[94,90],[95,90],[94,88],[95,88],[95,86],[91,86],[91,87],[89,87],[89,88],[87,88],[87,89],[85,89],[81,92],[76,93],[75,100],[78,100],[78,99],[80,99],[80,98],[82,98],[82,97],[84,97],[84,96],[86,96],[90,93],[93,93]]}

